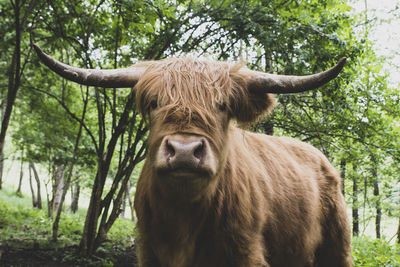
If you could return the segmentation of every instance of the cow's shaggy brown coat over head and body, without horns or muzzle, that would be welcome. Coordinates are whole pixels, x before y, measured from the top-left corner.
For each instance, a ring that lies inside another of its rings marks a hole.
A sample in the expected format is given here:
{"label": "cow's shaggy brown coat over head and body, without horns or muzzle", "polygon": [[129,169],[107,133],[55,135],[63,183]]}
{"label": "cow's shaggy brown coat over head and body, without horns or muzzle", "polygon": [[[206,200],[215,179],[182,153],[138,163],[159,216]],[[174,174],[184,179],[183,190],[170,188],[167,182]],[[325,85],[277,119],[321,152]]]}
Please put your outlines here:
{"label": "cow's shaggy brown coat over head and body, without horns or muzzle", "polygon": [[[269,112],[241,65],[192,58],[147,62],[136,85],[150,135],[135,196],[140,266],[352,266],[340,177],[324,155],[286,137],[237,128]],[[165,136],[207,139],[209,179],[175,182],[155,170]]]}

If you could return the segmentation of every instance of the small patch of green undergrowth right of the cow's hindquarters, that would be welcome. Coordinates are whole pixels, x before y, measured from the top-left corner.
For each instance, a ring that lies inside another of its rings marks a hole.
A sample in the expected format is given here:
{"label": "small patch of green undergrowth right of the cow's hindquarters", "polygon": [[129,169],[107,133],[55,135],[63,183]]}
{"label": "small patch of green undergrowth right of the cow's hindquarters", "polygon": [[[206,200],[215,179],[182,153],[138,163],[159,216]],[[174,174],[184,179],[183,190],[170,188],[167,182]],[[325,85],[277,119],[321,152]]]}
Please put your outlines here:
{"label": "small patch of green undergrowth right of the cow's hindquarters", "polygon": [[400,266],[400,245],[367,237],[353,238],[353,260],[356,267]]}

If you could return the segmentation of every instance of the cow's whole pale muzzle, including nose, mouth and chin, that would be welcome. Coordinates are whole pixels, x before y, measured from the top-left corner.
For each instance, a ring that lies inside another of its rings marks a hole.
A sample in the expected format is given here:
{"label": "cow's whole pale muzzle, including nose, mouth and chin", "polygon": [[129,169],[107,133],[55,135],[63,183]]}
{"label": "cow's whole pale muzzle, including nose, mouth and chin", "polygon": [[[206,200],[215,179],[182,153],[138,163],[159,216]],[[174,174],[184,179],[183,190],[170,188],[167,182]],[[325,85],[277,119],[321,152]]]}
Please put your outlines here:
{"label": "cow's whole pale muzzle, including nose, mouth and chin", "polygon": [[174,134],[163,138],[156,160],[160,176],[202,178],[215,174],[216,162],[206,138],[192,134]]}

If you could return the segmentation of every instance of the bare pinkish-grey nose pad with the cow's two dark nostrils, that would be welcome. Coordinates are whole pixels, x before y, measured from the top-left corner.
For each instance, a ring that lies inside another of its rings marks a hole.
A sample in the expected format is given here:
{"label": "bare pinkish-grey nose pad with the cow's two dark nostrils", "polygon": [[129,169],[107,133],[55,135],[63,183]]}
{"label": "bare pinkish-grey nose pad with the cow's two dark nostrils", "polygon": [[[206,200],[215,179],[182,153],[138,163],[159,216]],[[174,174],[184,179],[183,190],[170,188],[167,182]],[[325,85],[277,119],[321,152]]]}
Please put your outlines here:
{"label": "bare pinkish-grey nose pad with the cow's two dark nostrils", "polygon": [[170,165],[197,167],[204,157],[204,140],[165,140],[165,153]]}

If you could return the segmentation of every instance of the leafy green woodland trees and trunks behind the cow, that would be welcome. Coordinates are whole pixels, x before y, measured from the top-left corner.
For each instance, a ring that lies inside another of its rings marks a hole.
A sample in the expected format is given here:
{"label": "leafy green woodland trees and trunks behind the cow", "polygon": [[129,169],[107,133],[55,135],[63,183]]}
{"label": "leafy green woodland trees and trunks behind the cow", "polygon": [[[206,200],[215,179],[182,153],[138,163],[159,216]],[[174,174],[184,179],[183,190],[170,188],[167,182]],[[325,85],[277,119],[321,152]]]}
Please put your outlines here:
{"label": "leafy green woodland trees and trunks behind the cow", "polygon": [[[397,1],[391,12],[399,10]],[[249,128],[323,151],[342,174],[353,235],[399,242],[400,85],[382,69],[391,58],[373,49],[370,32],[382,22],[365,14],[344,0],[0,0],[0,188],[47,208],[54,240],[61,215],[84,208],[79,247],[88,255],[131,211],[146,153],[146,123],[130,90],[68,82],[39,62],[32,42],[85,68],[188,54],[303,75],[347,57],[339,78],[279,95],[272,116]],[[6,171],[11,162],[21,173]],[[31,191],[21,192],[23,184]],[[82,191],[88,204],[79,202]]]}

